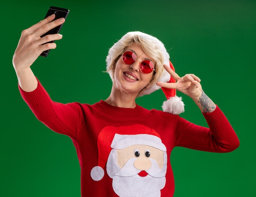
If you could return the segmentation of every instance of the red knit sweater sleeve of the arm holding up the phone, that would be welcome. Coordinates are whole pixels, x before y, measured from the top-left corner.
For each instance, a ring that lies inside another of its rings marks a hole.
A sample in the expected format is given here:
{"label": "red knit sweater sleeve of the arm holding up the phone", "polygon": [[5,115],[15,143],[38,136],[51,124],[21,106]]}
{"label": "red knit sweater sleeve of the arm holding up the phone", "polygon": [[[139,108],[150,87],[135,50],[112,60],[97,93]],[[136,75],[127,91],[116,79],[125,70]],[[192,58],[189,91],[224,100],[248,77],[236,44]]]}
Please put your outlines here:
{"label": "red knit sweater sleeve of the arm holding up the phone", "polygon": [[20,86],[19,90],[38,120],[56,133],[68,135],[72,139],[76,138],[85,124],[81,104],[62,104],[52,101],[39,81],[37,88],[32,92],[25,92]]}

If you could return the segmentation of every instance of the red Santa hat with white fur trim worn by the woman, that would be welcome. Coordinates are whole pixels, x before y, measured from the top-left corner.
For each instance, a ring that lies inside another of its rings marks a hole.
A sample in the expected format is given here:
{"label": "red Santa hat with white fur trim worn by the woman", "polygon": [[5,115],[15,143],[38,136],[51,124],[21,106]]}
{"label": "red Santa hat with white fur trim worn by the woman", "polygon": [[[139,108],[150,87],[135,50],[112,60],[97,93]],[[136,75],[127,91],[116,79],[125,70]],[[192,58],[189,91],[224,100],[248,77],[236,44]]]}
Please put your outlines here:
{"label": "red Santa hat with white fur trim worn by the woman", "polygon": [[[110,67],[110,63],[112,61],[112,55],[116,53],[117,49],[120,48],[120,45],[122,45],[123,40],[128,36],[128,37],[133,37],[135,35],[140,36],[141,38],[143,38],[144,40],[152,43],[152,45],[157,46],[157,48],[162,52],[163,55],[163,65],[170,65],[171,69],[174,70],[173,64],[170,62],[170,55],[168,54],[168,52],[166,51],[166,48],[164,46],[164,44],[158,40],[157,38],[155,38],[152,35],[148,35],[146,33],[142,33],[140,31],[131,31],[126,33],[118,42],[116,42],[108,51],[108,56],[106,58],[106,62],[107,62],[107,70]],[[113,71],[112,69],[108,72],[111,79],[113,80]],[[168,83],[175,83],[175,79],[173,79],[173,77],[171,77],[171,75],[164,69],[164,72],[162,74],[162,76],[159,77],[159,79],[157,79],[158,82],[168,82]],[[141,93],[139,93],[139,96],[143,96],[143,95],[148,95],[156,90],[160,89],[160,86],[157,86],[156,82],[154,84],[152,84],[150,86],[150,88],[145,89],[144,91],[142,91]],[[162,91],[164,92],[164,94],[166,95],[167,101],[165,101],[163,103],[163,111],[164,112],[168,112],[168,113],[172,113],[172,114],[180,114],[182,112],[184,112],[184,103],[182,102],[181,97],[177,97],[176,95],[176,90],[175,89],[167,89],[167,88],[162,88]]]}

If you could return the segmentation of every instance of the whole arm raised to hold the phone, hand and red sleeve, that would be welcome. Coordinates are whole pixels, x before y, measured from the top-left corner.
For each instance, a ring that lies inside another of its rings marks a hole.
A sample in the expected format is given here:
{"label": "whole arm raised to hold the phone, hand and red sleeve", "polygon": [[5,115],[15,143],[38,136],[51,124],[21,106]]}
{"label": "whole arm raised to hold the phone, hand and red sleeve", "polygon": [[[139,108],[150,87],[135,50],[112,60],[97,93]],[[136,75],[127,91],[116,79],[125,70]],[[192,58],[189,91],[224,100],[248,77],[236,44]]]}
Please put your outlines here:
{"label": "whole arm raised to hold the phone, hand and red sleeve", "polygon": [[82,106],[76,103],[53,102],[30,67],[43,51],[56,48],[55,43],[47,42],[62,38],[60,34],[40,37],[65,21],[64,18],[54,18],[54,14],[50,15],[22,31],[13,55],[13,67],[18,77],[20,93],[38,120],[57,133],[75,138],[85,120]]}

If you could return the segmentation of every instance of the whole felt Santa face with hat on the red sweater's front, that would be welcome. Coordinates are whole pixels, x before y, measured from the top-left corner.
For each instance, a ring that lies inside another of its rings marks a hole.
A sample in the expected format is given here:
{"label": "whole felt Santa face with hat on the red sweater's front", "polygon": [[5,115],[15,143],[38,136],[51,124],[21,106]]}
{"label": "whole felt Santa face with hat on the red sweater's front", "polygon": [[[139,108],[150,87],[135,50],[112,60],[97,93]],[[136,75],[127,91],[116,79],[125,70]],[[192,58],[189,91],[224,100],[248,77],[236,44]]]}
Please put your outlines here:
{"label": "whole felt Santa face with hat on the red sweater's front", "polygon": [[[104,166],[119,197],[161,196],[166,183],[166,146],[159,134],[144,125],[107,126],[98,136],[98,166],[94,181],[104,176]],[[107,162],[106,162],[107,161]]]}

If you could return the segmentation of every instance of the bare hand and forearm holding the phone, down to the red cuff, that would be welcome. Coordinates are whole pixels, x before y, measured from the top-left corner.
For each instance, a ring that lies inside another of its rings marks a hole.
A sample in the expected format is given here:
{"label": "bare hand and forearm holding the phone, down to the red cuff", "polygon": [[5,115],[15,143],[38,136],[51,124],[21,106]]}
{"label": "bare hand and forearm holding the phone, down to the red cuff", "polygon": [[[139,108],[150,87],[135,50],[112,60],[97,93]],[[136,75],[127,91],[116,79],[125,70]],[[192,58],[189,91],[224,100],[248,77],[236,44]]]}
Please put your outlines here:
{"label": "bare hand and forearm holding the phone, down to the red cuff", "polygon": [[58,20],[54,20],[54,18],[54,14],[50,15],[37,24],[23,30],[21,33],[12,62],[18,77],[18,83],[23,91],[34,91],[38,85],[36,77],[30,66],[43,51],[56,48],[56,43],[47,42],[60,40],[62,38],[61,34],[46,35],[42,38],[40,37],[50,29],[57,27],[65,21],[64,18],[60,18]]}

